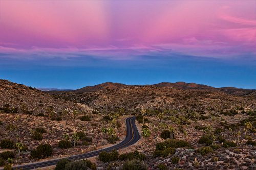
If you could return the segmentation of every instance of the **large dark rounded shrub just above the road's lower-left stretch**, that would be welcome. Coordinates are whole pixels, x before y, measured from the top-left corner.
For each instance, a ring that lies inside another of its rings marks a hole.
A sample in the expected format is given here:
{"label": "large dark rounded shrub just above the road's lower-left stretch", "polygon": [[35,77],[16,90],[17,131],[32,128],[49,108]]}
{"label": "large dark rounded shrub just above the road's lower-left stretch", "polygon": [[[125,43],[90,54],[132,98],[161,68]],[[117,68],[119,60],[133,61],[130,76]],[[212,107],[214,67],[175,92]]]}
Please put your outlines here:
{"label": "large dark rounded shrub just above the road's lower-left stretch", "polygon": [[50,144],[39,144],[36,149],[31,151],[31,157],[41,159],[51,156],[52,153],[53,150]]}

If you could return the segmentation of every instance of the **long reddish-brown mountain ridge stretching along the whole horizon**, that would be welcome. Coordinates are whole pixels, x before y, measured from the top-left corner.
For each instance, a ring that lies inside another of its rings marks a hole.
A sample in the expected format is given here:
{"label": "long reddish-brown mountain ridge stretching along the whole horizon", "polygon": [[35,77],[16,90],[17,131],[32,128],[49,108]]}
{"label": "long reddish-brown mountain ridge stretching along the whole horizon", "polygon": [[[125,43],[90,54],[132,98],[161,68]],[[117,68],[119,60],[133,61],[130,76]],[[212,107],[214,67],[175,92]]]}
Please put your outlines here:
{"label": "long reddish-brown mountain ridge stretching along the whole horizon", "polygon": [[[125,87],[131,87],[132,85],[126,85],[126,84],[121,84],[121,83],[112,83],[112,82],[106,82],[102,84],[98,84],[95,86],[86,86],[82,87],[77,90],[69,90],[69,92],[96,92],[100,90],[117,90]],[[138,85],[141,86],[141,85]],[[196,83],[186,83],[186,82],[176,82],[176,83],[169,83],[169,82],[162,82],[158,84],[153,84],[153,85],[143,85],[143,86],[150,86],[150,87],[170,87],[170,88],[176,88],[176,89],[182,89],[182,90],[191,90],[191,89],[196,89],[196,90],[208,90],[208,91],[221,91],[227,94],[232,94],[232,95],[247,95],[252,92],[256,92],[254,89],[242,89],[242,88],[236,88],[236,87],[211,87],[203,84],[196,84]],[[43,91],[48,91],[49,93],[61,93],[63,91],[68,91],[68,90],[43,90]]]}

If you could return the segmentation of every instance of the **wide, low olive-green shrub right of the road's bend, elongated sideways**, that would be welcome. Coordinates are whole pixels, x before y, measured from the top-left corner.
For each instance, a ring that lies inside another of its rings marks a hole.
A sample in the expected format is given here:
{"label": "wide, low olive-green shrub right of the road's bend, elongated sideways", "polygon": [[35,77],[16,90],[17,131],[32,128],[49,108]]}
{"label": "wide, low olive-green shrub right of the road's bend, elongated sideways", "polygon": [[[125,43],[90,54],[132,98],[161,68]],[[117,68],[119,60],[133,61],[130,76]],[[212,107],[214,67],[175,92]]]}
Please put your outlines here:
{"label": "wide, low olive-green shrub right of the road's bend, elongated sideways", "polygon": [[167,139],[156,144],[156,150],[163,150],[164,148],[184,148],[191,147],[191,144],[185,140]]}

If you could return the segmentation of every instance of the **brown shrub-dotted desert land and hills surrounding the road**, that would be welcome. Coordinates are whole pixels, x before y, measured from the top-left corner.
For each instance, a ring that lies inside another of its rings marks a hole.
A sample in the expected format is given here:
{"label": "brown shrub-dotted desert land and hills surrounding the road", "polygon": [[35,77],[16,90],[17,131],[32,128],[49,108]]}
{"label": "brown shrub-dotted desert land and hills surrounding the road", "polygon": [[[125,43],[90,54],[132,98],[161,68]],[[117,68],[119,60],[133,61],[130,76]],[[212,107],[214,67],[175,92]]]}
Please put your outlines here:
{"label": "brown shrub-dotted desert land and hills surrounding the road", "polygon": [[[1,166],[106,148],[124,139],[125,118],[136,116],[141,139],[118,156],[89,158],[92,169],[122,169],[135,157],[148,169],[255,168],[255,90],[108,82],[44,92],[1,80],[0,92]],[[36,154],[40,144],[51,152]]]}

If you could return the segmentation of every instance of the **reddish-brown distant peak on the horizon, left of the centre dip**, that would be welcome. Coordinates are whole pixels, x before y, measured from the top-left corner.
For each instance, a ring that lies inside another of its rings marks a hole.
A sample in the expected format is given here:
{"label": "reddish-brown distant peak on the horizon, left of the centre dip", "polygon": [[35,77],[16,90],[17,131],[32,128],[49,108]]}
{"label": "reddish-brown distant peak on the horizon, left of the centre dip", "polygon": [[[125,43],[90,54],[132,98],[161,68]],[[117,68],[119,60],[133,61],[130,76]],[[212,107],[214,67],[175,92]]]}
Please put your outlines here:
{"label": "reddish-brown distant peak on the horizon, left of the centre dip", "polygon": [[74,92],[94,92],[94,91],[106,90],[106,89],[114,90],[114,89],[120,89],[128,86],[131,86],[131,85],[106,82],[106,83],[98,84],[95,86],[86,86],[86,87],[74,90]]}

